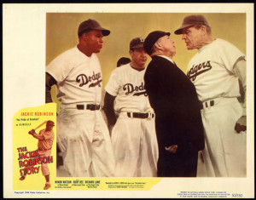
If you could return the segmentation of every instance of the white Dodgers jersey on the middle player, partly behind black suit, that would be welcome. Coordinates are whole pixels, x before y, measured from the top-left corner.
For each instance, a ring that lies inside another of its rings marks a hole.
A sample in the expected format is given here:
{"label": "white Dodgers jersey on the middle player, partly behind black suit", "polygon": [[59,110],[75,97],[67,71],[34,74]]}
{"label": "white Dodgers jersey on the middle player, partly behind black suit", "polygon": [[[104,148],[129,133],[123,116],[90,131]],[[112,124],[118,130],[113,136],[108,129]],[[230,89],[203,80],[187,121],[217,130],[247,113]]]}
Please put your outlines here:
{"label": "white Dodgers jersey on the middle player, partly behind black suit", "polygon": [[133,69],[130,63],[113,70],[105,89],[116,96],[114,111],[153,112],[144,87],[145,71]]}

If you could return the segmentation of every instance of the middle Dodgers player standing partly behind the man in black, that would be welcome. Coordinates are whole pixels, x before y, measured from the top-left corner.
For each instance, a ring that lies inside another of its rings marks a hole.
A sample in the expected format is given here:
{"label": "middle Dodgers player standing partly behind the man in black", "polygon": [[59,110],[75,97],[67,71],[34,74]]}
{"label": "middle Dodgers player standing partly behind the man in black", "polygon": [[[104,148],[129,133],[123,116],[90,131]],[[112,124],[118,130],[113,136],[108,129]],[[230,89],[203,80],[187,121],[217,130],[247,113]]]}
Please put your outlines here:
{"label": "middle Dodgers player standing partly behind the man in black", "polygon": [[158,146],[154,111],[144,89],[147,53],[143,49],[143,42],[142,37],[131,40],[131,63],[114,69],[105,88],[108,125],[115,123],[114,112],[119,116],[111,135],[116,177],[157,175]]}

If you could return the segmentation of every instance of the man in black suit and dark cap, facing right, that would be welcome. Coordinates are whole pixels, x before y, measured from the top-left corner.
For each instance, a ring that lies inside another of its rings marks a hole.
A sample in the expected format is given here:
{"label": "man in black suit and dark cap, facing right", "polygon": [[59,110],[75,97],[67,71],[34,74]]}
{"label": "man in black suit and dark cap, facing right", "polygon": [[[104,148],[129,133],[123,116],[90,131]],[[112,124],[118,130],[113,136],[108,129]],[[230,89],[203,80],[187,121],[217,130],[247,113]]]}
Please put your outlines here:
{"label": "man in black suit and dark cap, facing right", "polygon": [[204,148],[203,126],[195,86],[172,57],[170,32],[152,31],[144,49],[152,60],[145,72],[145,89],[155,112],[159,145],[159,177],[195,177],[198,151]]}

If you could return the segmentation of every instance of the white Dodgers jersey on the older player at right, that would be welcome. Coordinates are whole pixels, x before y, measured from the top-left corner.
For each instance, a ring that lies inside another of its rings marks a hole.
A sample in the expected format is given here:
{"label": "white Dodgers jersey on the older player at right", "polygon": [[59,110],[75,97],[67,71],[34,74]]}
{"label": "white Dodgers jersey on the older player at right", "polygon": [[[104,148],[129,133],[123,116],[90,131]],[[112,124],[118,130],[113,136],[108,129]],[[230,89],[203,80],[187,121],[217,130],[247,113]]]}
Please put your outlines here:
{"label": "white Dodgers jersey on the older player at right", "polygon": [[234,71],[236,60],[240,57],[245,55],[222,39],[198,49],[189,62],[187,76],[195,84],[199,100],[240,96],[238,77]]}

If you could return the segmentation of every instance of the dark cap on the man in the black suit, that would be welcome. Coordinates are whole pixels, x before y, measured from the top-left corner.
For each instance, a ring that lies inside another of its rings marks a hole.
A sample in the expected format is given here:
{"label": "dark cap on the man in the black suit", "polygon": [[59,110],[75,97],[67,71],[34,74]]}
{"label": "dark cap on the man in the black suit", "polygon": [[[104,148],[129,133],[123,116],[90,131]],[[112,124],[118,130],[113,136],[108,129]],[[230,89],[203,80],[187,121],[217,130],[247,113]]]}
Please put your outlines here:
{"label": "dark cap on the man in the black suit", "polygon": [[152,49],[154,46],[154,43],[160,38],[164,36],[170,36],[170,32],[165,31],[152,31],[148,34],[148,36],[145,39],[144,42],[144,49],[147,52],[147,54],[152,54]]}

